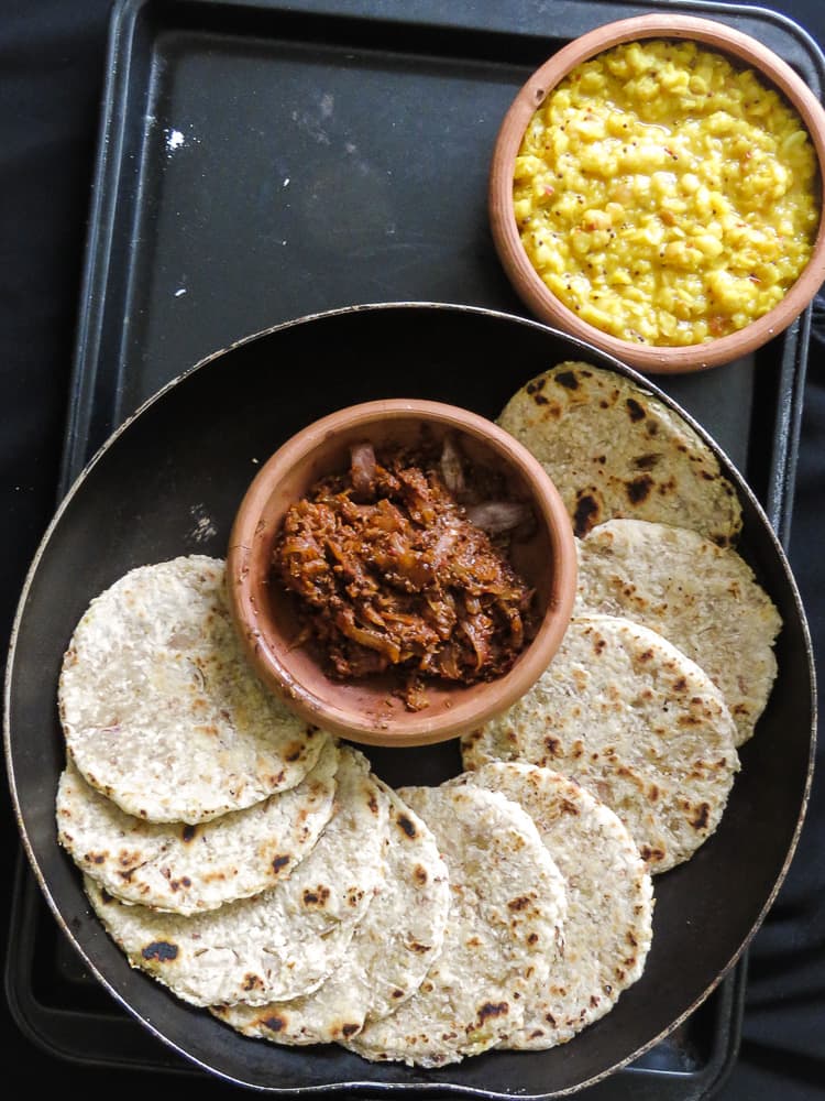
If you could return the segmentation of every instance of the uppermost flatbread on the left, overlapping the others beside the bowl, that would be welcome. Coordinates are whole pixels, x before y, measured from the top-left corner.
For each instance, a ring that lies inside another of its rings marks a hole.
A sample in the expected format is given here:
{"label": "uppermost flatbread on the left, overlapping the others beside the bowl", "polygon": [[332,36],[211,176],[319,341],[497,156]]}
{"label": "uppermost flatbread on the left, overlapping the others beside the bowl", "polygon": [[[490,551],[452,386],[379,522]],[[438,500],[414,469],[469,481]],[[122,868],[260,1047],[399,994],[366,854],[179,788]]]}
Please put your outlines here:
{"label": "uppermost flatbread on the left, overlapping the others beside the bowl", "polygon": [[299,784],[327,739],[250,669],[204,555],[130,570],[92,600],[59,713],[84,778],[127,814],[190,825]]}

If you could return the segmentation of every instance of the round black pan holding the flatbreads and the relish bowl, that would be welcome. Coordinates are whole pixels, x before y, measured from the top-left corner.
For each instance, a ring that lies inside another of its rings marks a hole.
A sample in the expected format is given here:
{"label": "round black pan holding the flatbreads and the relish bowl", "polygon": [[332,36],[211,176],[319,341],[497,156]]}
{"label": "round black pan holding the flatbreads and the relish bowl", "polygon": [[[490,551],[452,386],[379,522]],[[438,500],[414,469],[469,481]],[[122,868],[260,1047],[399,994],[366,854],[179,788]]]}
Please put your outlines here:
{"label": "round black pan holding the flatbreads and the relish bowl", "polygon": [[[22,593],[7,675],[6,751],[23,842],[48,905],[86,966],[148,1029],[207,1070],[286,1094],[336,1087],[358,1089],[362,1097],[373,1090],[427,1094],[447,1087],[459,1095],[557,1097],[606,1076],[674,1028],[734,966],[765,917],[807,802],[813,663],[781,545],[713,444],[739,488],[739,549],[784,620],[779,678],[743,749],[741,772],[716,835],[691,861],[654,881],[653,946],[645,974],[612,1013],[571,1043],[546,1053],[490,1051],[422,1071],[369,1064],[333,1046],[284,1048],[245,1039],[129,967],[56,843],[54,797],[64,765],[56,684],[64,648],[92,597],[134,566],[188,553],[222,557],[255,460],[267,458],[300,425],[380,396],[438,399],[494,417],[516,389],[570,358],[626,373],[678,407],[594,349],[486,309],[387,304],[278,326],[210,357],[147,402],[81,473],[46,533]],[[367,755],[389,783],[439,783],[460,771],[454,742]]]}

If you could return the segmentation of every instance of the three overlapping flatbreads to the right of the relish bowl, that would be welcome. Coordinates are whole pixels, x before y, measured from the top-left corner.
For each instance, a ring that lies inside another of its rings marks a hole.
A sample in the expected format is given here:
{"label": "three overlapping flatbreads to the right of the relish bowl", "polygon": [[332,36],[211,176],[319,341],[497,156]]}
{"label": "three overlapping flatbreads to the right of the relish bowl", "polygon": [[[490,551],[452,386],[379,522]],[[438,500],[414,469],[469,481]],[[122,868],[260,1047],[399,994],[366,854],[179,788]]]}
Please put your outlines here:
{"label": "three overlapping flatbreads to the right of the relish bowl", "polygon": [[619,816],[651,872],[722,820],[777,675],[779,612],[736,549],[735,487],[711,447],[635,381],[564,362],[499,423],[565,502],[579,552],[573,618],[550,667],[462,739],[468,770],[556,768]]}

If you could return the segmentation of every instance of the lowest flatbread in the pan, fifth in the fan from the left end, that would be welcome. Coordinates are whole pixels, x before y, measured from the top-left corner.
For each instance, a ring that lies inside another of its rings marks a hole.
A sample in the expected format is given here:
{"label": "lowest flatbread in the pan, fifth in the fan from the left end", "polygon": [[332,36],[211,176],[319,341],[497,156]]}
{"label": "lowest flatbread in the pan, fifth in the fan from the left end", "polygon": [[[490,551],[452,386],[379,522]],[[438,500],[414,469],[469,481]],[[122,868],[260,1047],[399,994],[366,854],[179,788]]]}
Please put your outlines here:
{"label": "lowest flatbread in the pan, fifth in the fan from the left end", "polygon": [[532,819],[501,793],[442,785],[398,794],[447,863],[444,942],[416,993],[344,1046],[372,1061],[441,1067],[520,1026],[559,956],[564,886]]}

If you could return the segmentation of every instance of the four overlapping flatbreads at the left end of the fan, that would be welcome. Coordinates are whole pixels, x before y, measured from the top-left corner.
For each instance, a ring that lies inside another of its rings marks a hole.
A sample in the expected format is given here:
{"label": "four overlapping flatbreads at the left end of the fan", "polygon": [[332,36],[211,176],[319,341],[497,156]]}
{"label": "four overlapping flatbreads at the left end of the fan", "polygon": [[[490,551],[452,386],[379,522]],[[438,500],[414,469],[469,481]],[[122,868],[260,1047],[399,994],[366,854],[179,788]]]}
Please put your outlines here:
{"label": "four overlapping flatbreads at the left end of the fan", "polygon": [[116,581],[77,625],[58,700],[59,841],[133,966],[295,1043],[414,992],[447,922],[433,835],[254,677],[223,562]]}

